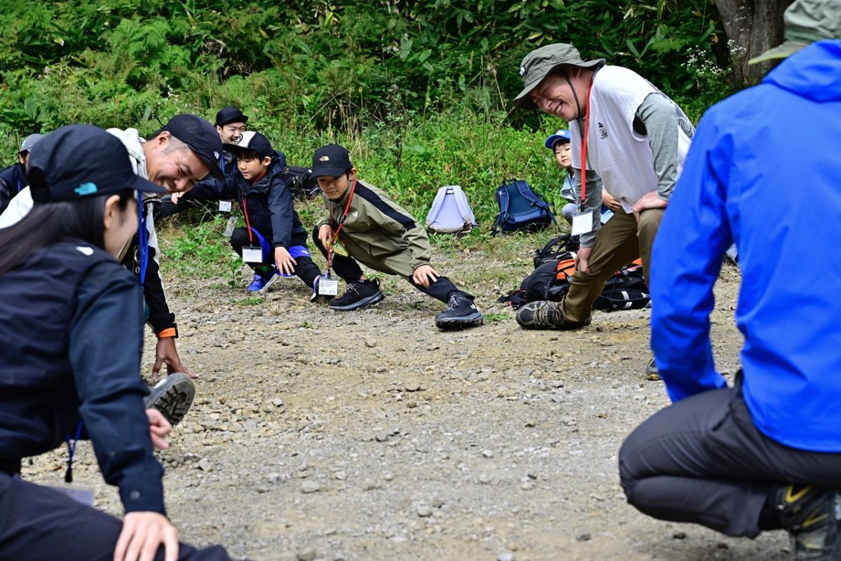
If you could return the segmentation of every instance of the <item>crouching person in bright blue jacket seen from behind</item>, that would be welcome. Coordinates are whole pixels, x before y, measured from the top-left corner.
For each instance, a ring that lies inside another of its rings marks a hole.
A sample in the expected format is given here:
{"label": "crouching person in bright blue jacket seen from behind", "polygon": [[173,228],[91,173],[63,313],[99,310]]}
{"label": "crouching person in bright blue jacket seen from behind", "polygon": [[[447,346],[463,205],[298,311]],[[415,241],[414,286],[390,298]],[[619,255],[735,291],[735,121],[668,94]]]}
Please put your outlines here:
{"label": "crouching person in bright blue jacket seen from behind", "polygon": [[[665,212],[651,342],[673,405],[627,438],[619,471],[649,516],[728,536],[785,529],[796,559],[838,560],[841,0],[796,0],[785,24],[759,58],[796,54],[706,112]],[[709,315],[733,242],[744,346],[727,387]]]}

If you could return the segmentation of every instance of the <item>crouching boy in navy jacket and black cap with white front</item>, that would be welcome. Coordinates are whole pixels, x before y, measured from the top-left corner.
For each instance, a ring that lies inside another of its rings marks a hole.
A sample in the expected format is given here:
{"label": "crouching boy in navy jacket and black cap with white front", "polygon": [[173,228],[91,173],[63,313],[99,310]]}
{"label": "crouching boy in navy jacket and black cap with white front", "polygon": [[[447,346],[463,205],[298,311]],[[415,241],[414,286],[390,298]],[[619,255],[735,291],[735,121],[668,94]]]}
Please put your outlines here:
{"label": "crouching boy in navy jacket and black cap with white front", "polygon": [[173,202],[236,198],[246,228],[236,228],[230,245],[254,270],[248,291],[263,292],[280,276],[298,275],[309,288],[320,275],[307,249],[307,233],[283,181],[286,156],[260,133],[242,133],[239,144],[225,144],[236,155],[237,170],[225,181],[204,181]]}

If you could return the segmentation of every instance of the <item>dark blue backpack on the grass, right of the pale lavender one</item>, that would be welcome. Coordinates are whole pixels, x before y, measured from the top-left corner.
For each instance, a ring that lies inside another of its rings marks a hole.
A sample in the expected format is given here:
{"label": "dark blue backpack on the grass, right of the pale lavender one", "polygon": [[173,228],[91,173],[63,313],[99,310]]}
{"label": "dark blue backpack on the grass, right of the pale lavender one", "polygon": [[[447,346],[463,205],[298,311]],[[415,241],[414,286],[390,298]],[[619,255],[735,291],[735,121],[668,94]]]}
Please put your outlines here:
{"label": "dark blue backpack on the grass, right of the pale lavender one", "polygon": [[491,235],[517,230],[537,232],[550,223],[558,229],[552,207],[526,181],[513,179],[503,182],[496,190],[496,202],[500,206],[500,213],[496,215]]}

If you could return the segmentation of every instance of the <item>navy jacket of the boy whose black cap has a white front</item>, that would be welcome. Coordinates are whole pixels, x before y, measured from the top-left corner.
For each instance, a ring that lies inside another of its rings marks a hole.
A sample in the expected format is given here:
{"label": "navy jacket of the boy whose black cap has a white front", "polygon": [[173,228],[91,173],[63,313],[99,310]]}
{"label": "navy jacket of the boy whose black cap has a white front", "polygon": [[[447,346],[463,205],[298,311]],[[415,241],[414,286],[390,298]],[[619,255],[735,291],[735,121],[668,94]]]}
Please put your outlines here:
{"label": "navy jacket of the boy whose black cap has a white front", "polygon": [[240,202],[246,223],[272,240],[272,247],[289,249],[307,244],[307,233],[295,212],[292,194],[286,182],[286,156],[275,152],[272,165],[253,185],[240,170],[226,176],[225,180],[203,181],[184,195],[184,200],[216,201],[236,198]]}

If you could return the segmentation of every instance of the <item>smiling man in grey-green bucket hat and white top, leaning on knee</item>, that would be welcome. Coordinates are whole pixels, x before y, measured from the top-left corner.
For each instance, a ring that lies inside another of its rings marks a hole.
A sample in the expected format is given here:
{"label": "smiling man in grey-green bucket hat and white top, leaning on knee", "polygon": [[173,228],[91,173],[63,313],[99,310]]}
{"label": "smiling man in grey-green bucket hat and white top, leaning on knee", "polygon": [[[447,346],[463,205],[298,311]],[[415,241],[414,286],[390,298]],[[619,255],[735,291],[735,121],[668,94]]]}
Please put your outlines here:
{"label": "smiling man in grey-green bucket hat and white top, leaning on knee", "polygon": [[[526,304],[517,322],[529,329],[582,328],[616,270],[642,257],[650,278],[651,245],[694,129],[680,107],[642,76],[606,66],[604,59],[583,60],[573,45],[532,50],[520,75],[524,87],[515,105],[569,123],[576,183],[584,196],[573,224],[581,248],[569,293],[560,302]],[[621,202],[604,225],[602,182]]]}

